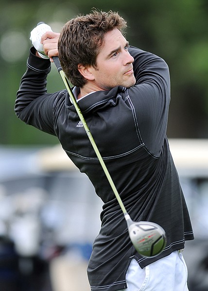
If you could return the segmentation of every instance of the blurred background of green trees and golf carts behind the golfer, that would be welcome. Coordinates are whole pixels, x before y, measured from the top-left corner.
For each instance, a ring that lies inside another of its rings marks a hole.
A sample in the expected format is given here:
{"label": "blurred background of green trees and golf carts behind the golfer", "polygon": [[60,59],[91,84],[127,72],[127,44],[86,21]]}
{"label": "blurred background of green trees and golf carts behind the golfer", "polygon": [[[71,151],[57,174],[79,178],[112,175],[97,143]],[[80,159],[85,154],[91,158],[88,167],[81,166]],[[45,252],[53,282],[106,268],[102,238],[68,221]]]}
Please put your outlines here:
{"label": "blurred background of green trees and golf carts behind the golfer", "polygon": [[[168,63],[167,135],[190,210],[195,240],[184,257],[190,291],[208,290],[208,1],[0,1],[0,291],[88,291],[87,260],[102,203],[57,139],[14,113],[30,32],[54,32],[95,7],[119,11],[130,45]],[[55,66],[48,92],[63,89]]]}

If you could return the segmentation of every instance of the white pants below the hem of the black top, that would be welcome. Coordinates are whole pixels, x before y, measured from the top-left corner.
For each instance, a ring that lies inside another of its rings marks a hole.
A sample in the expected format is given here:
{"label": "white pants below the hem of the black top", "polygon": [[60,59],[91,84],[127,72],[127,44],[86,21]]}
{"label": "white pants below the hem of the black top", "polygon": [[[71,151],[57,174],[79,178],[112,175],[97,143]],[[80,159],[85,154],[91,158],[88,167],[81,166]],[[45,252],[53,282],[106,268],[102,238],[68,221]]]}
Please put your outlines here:
{"label": "white pants below the hem of the black top", "polygon": [[179,251],[146,266],[132,259],[126,273],[127,289],[121,291],[189,291],[187,266]]}

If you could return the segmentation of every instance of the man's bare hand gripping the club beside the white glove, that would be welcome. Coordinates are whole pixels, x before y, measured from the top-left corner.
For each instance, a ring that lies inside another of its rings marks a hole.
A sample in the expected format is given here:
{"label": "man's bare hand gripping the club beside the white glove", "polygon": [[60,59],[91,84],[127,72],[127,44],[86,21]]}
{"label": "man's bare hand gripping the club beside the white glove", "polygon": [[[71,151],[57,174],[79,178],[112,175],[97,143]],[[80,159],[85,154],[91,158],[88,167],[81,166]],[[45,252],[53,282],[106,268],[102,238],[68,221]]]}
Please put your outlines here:
{"label": "man's bare hand gripping the club beside the white glove", "polygon": [[51,62],[53,62],[52,57],[58,57],[58,39],[60,33],[57,32],[45,32],[40,43],[43,45],[43,50],[45,55],[47,55]]}

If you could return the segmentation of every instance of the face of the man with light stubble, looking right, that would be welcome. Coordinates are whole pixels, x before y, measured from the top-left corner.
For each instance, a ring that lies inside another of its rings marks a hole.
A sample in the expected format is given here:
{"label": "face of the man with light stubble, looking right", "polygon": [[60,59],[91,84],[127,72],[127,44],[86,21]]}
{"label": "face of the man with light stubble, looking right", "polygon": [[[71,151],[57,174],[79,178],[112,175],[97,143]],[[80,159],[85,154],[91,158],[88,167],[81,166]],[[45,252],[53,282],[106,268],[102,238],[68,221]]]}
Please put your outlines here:
{"label": "face of the man with light stubble, looking right", "polygon": [[[90,67],[97,90],[110,90],[121,85],[131,87],[136,80],[133,72],[134,58],[128,52],[128,42],[118,29],[107,32],[97,56],[97,68]],[[95,90],[95,91],[97,91]]]}

